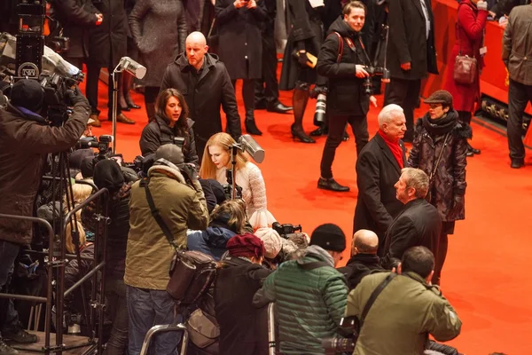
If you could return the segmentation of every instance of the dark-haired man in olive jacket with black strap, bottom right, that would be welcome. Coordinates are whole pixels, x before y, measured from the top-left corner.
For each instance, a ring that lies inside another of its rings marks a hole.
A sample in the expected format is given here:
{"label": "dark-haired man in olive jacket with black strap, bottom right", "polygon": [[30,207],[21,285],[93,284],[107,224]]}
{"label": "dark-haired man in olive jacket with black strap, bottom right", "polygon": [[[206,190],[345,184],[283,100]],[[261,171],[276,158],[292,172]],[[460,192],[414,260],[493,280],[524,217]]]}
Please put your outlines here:
{"label": "dark-haired man in olive jacket with black strap, bottom right", "polygon": [[[434,256],[425,247],[408,249],[397,275],[382,290],[364,319],[353,355],[421,355],[428,335],[445,342],[460,334],[462,322],[440,288],[432,286]],[[389,272],[365,276],[349,293],[346,316],[361,316]]]}

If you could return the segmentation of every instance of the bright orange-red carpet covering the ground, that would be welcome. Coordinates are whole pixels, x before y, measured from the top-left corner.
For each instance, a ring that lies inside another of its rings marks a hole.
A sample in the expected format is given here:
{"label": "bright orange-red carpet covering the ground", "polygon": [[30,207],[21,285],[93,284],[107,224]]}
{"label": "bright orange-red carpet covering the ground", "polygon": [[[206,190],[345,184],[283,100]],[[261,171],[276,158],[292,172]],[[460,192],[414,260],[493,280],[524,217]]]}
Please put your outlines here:
{"label": "bright orange-red carpet covering the ground", "polygon": [[[240,92],[240,90],[238,90]],[[106,106],[106,87],[100,86],[102,110]],[[281,101],[291,105],[291,92],[281,92]],[[240,115],[244,109],[238,94]],[[382,96],[379,98],[382,106]],[[143,109],[126,113],[137,124],[118,123],[117,152],[131,161],[140,153],[138,139],[147,122]],[[309,101],[305,130],[313,130],[315,100]],[[370,136],[377,130],[377,114],[368,117]],[[105,118],[106,112],[102,113]],[[422,111],[419,111],[419,115]],[[266,151],[259,164],[268,191],[268,207],[280,223],[301,224],[311,233],[317,225],[331,222],[346,234],[352,231],[356,205],[356,149],[354,138],[339,147],[332,170],[350,193],[318,190],[319,162],[325,138],[315,145],[293,143],[290,136],[292,114],[256,111],[258,127],[264,135],[256,138]],[[111,133],[104,122],[95,134]],[[532,154],[528,166],[510,169],[506,138],[473,124],[473,146],[481,155],[469,159],[465,221],[457,223],[450,236],[447,261],[442,273],[443,294],[462,319],[462,335],[450,342],[465,354],[488,355],[492,351],[522,355],[532,353]],[[344,263],[348,250],[344,256]]]}

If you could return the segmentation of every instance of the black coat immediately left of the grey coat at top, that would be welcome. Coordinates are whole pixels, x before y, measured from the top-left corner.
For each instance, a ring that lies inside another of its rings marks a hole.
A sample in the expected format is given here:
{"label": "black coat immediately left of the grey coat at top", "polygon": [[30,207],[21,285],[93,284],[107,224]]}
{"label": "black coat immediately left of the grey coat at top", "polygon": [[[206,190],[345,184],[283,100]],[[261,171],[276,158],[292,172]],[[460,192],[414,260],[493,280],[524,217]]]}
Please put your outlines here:
{"label": "black coat immediately left of the grey coat at top", "polygon": [[128,16],[123,0],[102,0],[94,6],[104,15],[104,21],[90,28],[89,62],[98,67],[116,67],[126,55]]}

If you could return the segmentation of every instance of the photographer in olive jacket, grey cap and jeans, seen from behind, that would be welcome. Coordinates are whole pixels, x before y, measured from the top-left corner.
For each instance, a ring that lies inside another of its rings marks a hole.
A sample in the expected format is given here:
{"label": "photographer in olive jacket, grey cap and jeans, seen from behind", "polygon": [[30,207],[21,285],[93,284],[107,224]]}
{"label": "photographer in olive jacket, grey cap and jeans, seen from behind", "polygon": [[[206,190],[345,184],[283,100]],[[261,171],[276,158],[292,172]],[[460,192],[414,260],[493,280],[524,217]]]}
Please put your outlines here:
{"label": "photographer in olive jacket, grey cap and jeans, seen from behind", "polygon": [[[180,320],[174,315],[174,300],[166,291],[170,263],[176,248],[186,247],[187,229],[204,230],[208,223],[207,205],[197,177],[179,168],[184,162],[181,149],[171,144],[160,146],[155,159],[148,177],[131,186],[129,201],[124,283],[130,355],[140,353],[151,327]],[[155,353],[170,354],[177,342],[173,333],[159,335],[153,344]]]}

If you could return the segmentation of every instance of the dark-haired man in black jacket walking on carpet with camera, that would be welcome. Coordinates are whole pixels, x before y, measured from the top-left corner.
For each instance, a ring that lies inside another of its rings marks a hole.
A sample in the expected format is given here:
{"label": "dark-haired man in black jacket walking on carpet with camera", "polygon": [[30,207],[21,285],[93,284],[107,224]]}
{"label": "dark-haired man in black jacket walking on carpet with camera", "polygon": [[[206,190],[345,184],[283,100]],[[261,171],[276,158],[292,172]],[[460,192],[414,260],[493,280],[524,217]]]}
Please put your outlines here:
{"label": "dark-haired man in black jacket walking on carpet with camera", "polygon": [[371,96],[370,74],[365,70],[371,63],[360,37],[365,12],[364,4],[358,1],[346,4],[343,19],[338,18],[332,23],[329,36],[317,57],[317,73],[329,78],[329,135],[324,146],[321,177],[317,181],[317,187],[335,192],[349,191],[348,186],[340,185],[332,178],[331,168],[346,124],[351,125],[356,140],[356,153],[360,154],[370,137],[366,119],[370,101],[377,106],[377,99]]}

